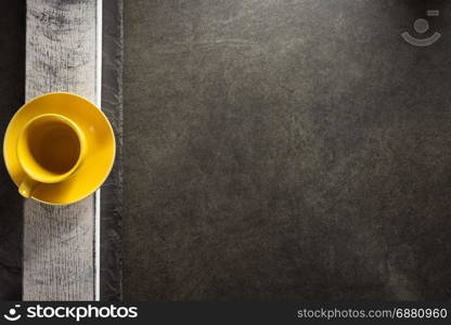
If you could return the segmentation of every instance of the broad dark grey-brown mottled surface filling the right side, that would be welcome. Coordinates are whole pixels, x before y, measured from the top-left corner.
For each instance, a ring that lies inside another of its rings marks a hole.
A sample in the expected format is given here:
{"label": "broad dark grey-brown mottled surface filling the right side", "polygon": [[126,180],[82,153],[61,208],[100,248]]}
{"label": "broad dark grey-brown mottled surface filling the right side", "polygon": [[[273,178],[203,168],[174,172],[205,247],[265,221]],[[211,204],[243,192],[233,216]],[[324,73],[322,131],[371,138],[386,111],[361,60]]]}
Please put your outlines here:
{"label": "broad dark grey-brown mottled surface filling the right side", "polygon": [[126,1],[125,299],[450,299],[450,17]]}

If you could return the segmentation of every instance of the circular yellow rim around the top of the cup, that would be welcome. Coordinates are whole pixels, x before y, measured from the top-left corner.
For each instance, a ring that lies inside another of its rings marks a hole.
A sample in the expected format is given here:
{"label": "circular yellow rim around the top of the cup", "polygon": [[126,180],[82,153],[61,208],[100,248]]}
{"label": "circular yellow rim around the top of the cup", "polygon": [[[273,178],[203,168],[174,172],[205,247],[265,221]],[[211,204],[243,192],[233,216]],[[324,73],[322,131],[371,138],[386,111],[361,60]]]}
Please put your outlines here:
{"label": "circular yellow rim around the top of the cup", "polygon": [[[29,128],[37,120],[44,119],[44,118],[55,118],[55,119],[59,119],[59,120],[63,121],[65,125],[67,125],[77,134],[78,142],[80,144],[80,153],[78,155],[77,161],[65,173],[57,174],[57,176],[53,176],[53,177],[44,177],[44,178],[41,178],[39,174],[37,174],[34,171],[29,170],[29,168],[26,166],[26,164],[24,164],[23,159],[21,159],[21,154],[20,154],[21,151],[18,150],[18,146],[20,146],[21,142],[24,141],[25,130],[27,128]],[[69,177],[72,177],[75,173],[75,171],[80,167],[82,160],[85,159],[86,150],[87,150],[86,148],[86,139],[85,139],[85,134],[80,130],[80,128],[70,118],[68,118],[68,117],[66,117],[64,115],[54,114],[54,113],[42,114],[42,115],[36,116],[33,119],[30,119],[29,121],[27,121],[25,123],[25,126],[22,128],[22,130],[20,132],[20,135],[17,138],[17,143],[16,143],[17,161],[18,161],[20,166],[22,167],[22,169],[24,170],[24,172],[30,179],[33,179],[35,181],[38,181],[40,183],[48,183],[48,184],[59,183],[59,182],[62,182],[64,180],[67,180]]]}

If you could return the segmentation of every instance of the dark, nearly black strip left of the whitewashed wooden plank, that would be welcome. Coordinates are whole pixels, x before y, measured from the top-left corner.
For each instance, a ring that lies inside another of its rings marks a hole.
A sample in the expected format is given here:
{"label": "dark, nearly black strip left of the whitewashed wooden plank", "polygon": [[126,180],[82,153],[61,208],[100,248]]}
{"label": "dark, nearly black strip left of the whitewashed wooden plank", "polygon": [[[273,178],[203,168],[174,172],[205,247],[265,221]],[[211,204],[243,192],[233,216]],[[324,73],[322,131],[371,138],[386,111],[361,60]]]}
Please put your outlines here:
{"label": "dark, nearly black strip left of the whitewashed wooden plank", "polygon": [[[0,11],[0,133],[25,95],[25,0]],[[0,300],[22,298],[22,198],[0,159]]]}

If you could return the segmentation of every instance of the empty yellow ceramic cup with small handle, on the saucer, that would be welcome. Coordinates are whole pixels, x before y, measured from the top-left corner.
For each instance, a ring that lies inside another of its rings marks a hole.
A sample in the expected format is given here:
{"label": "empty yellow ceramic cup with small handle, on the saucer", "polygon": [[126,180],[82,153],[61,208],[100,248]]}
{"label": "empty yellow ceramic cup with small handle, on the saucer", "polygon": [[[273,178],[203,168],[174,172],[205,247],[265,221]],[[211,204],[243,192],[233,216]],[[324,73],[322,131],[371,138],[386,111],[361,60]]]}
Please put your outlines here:
{"label": "empty yellow ceramic cup with small handle, on the saucer", "polygon": [[87,141],[69,118],[43,114],[25,125],[16,150],[18,164],[25,171],[18,193],[30,197],[40,183],[59,183],[70,178],[85,159]]}

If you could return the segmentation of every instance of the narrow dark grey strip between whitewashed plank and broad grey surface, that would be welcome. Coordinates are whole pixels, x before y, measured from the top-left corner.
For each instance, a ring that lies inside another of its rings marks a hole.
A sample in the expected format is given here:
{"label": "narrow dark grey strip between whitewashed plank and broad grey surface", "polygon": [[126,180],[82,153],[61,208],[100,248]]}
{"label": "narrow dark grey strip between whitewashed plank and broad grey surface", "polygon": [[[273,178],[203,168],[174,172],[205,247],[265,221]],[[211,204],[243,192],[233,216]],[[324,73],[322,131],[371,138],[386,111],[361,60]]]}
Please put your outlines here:
{"label": "narrow dark grey strip between whitewashed plank and broad grey surface", "polygon": [[116,160],[101,191],[101,300],[121,298],[123,0],[103,1],[102,109],[116,136]]}

